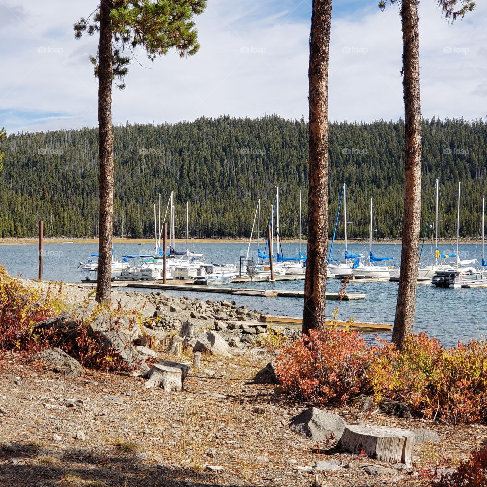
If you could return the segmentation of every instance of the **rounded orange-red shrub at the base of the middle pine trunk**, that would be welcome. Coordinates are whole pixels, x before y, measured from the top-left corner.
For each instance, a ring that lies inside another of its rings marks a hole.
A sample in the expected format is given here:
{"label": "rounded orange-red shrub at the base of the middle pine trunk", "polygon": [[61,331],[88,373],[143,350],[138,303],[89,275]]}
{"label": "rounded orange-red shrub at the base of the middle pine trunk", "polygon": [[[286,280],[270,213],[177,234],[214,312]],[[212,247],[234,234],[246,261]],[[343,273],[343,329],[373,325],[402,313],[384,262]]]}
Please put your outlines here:
{"label": "rounded orange-red shrub at the base of the middle pine trunk", "polygon": [[372,391],[371,370],[385,350],[387,346],[368,346],[356,331],[311,330],[302,340],[281,349],[276,373],[295,396],[341,404]]}

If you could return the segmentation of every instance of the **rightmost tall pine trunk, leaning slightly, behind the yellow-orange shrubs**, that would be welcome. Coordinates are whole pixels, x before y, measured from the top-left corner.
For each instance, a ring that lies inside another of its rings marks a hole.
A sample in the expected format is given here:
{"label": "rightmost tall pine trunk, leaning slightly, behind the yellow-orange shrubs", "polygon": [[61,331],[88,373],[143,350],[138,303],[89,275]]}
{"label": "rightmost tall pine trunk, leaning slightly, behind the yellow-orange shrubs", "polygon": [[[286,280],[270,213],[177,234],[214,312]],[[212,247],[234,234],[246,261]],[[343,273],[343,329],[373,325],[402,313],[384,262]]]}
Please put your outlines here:
{"label": "rightmost tall pine trunk, leaning slightly, behind the yellow-orange shrubs", "polygon": [[403,0],[403,88],[405,107],[405,178],[401,273],[392,341],[398,349],[413,332],[418,281],[421,220],[421,108],[418,0]]}

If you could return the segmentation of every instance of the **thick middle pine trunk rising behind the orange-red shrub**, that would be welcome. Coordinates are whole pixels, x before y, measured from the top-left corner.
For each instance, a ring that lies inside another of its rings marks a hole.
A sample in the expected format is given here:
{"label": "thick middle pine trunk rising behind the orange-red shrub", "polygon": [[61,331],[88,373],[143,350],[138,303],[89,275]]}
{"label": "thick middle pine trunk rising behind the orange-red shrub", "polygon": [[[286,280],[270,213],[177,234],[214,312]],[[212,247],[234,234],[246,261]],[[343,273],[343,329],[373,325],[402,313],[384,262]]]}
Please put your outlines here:
{"label": "thick middle pine trunk rising behind the orange-red shrub", "polygon": [[309,203],[303,333],[325,322],[328,253],[328,59],[331,0],[314,0],[309,47]]}

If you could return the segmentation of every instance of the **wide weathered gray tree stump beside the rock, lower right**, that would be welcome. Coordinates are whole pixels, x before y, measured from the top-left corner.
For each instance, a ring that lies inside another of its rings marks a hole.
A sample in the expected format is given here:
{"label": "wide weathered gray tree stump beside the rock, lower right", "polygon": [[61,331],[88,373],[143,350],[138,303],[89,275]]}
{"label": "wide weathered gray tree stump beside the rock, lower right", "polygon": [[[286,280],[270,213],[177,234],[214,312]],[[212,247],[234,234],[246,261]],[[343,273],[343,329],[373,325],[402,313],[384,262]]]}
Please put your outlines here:
{"label": "wide weathered gray tree stump beside the rock, lower right", "polygon": [[413,431],[400,428],[349,425],[345,427],[338,448],[354,454],[365,451],[370,458],[412,467],[415,438]]}

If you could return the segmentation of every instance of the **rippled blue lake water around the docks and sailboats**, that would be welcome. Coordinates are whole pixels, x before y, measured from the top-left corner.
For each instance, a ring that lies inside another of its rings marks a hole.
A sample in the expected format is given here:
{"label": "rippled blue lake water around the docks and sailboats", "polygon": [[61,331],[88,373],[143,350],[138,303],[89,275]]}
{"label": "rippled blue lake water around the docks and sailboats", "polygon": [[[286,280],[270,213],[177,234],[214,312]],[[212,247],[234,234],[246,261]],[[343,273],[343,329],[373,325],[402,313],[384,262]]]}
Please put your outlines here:
{"label": "rippled blue lake water around the docks and sailboats", "polygon": [[[286,243],[284,253],[287,256],[296,256],[297,244]],[[206,261],[214,263],[234,263],[240,255],[245,255],[245,243],[201,243],[190,250],[202,252]],[[442,253],[453,253],[453,246],[442,244]],[[303,252],[304,252],[303,247]],[[334,258],[339,258],[344,246],[335,244]],[[349,245],[351,253],[367,253],[364,245]],[[380,257],[394,256],[396,263],[400,260],[400,245],[376,244],[374,254]],[[423,261],[431,261],[434,249],[428,245],[423,250]],[[84,261],[90,253],[97,252],[96,244],[86,243],[49,243],[45,245],[44,280],[64,282],[80,282],[80,273],[76,269],[79,261]],[[256,257],[256,249],[251,249]],[[115,244],[115,257],[120,260],[124,254],[153,253],[153,246]],[[461,258],[477,258],[481,260],[479,245],[462,245]],[[1,245],[0,263],[2,263],[13,276],[22,274],[23,277],[37,277],[38,253],[37,245]],[[233,285],[234,286],[234,285]],[[251,287],[255,289],[304,289],[304,281],[277,281],[275,283],[259,282],[238,284],[238,287]],[[328,280],[327,290],[338,292],[341,282]],[[339,318],[348,320],[353,317],[356,321],[393,323],[397,298],[397,283],[357,283],[349,284],[347,292],[364,293],[365,300],[344,301],[339,305]],[[133,288],[126,288],[132,290]],[[151,292],[151,290],[143,290]],[[214,301],[222,299],[235,300],[237,304],[246,304],[250,308],[259,309],[270,314],[283,314],[291,316],[302,315],[303,301],[300,298],[263,298],[255,296],[229,296],[216,293],[191,293],[180,291],[167,291],[172,296],[198,297]],[[427,330],[430,336],[438,337],[446,346],[455,345],[457,340],[466,341],[469,338],[483,338],[487,335],[487,298],[486,289],[437,289],[429,285],[419,286],[417,295],[417,308],[415,318],[415,331]],[[328,301],[327,315],[337,306],[336,301]],[[390,334],[382,334],[384,338]]]}

